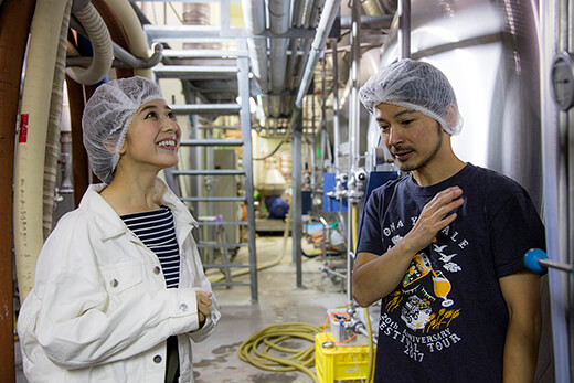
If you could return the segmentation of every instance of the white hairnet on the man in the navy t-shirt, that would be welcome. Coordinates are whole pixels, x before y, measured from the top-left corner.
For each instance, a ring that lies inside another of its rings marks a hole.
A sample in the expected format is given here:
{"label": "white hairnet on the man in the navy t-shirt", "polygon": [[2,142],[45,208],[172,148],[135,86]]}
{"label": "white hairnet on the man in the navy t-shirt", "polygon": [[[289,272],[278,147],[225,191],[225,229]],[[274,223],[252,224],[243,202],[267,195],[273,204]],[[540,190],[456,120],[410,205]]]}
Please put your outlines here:
{"label": "white hairnet on the man in the navy t-shirt", "polygon": [[[371,76],[359,91],[359,97],[370,113],[379,104],[392,104],[434,118],[450,135],[458,135],[463,128],[450,83],[428,63],[401,60]],[[455,111],[456,116],[451,116]]]}

